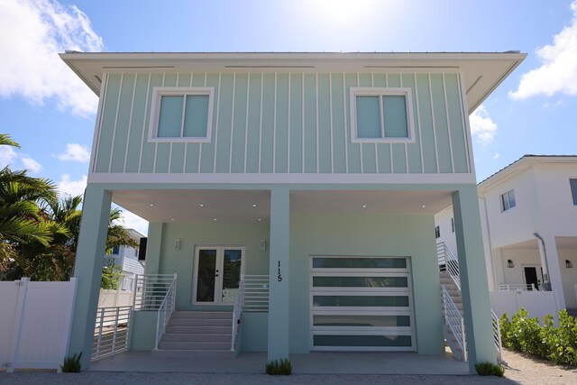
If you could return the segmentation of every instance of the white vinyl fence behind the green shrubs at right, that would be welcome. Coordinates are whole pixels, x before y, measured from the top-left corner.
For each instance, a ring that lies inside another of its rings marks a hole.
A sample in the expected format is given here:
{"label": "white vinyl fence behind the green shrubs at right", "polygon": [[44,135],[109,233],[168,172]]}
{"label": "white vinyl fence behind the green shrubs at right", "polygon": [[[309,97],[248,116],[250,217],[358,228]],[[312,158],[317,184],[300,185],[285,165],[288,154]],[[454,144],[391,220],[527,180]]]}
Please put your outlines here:
{"label": "white vinyl fence behind the green shrubs at right", "polygon": [[499,290],[490,291],[490,304],[497,316],[507,313],[509,319],[523,307],[531,318],[539,317],[543,324],[543,317],[551,315],[555,324],[558,321],[559,308],[556,291],[538,290]]}

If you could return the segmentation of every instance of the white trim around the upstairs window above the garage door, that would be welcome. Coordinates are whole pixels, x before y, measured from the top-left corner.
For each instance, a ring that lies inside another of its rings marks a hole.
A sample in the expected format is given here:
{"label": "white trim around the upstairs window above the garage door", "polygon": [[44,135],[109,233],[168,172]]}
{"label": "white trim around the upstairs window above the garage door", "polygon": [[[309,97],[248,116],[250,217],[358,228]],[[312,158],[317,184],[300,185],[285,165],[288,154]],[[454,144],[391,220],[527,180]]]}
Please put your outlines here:
{"label": "white trim around the upstairs window above the garage door", "polygon": [[[405,111],[407,113],[408,138],[388,138],[384,132],[384,116],[380,115],[380,138],[359,138],[357,134],[357,98],[356,96],[405,96]],[[408,87],[351,87],[351,142],[353,143],[414,143],[415,125],[413,124],[413,96]]]}

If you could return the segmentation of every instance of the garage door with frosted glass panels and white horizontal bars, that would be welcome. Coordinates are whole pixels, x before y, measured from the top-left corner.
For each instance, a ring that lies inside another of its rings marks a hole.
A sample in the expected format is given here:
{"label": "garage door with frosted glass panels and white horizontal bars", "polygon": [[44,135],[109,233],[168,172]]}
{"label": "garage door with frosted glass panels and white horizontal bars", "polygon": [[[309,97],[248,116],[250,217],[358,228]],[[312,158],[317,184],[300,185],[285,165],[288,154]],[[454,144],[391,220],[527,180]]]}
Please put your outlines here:
{"label": "garage door with frosted glass panels and white horizontal bars", "polygon": [[311,350],[415,351],[409,258],[310,263]]}

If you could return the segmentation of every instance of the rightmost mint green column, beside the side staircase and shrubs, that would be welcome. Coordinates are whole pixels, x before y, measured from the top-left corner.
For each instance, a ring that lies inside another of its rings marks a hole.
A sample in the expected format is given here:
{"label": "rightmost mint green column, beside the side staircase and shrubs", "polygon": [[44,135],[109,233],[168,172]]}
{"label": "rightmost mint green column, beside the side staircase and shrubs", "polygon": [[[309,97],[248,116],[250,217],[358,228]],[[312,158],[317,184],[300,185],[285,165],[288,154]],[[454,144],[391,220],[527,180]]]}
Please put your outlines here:
{"label": "rightmost mint green column, beside the side staircase and shrubs", "polygon": [[479,200],[475,185],[453,192],[453,213],[469,371],[475,373],[475,363],[497,363],[492,337]]}

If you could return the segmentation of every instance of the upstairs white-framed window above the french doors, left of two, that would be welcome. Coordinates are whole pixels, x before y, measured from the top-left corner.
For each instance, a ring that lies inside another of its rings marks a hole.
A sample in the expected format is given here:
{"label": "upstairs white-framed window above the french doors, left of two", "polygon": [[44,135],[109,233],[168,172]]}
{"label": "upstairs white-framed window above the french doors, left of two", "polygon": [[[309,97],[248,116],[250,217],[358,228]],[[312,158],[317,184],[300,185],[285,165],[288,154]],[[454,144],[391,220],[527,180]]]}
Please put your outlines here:
{"label": "upstairs white-framed window above the french doors, left of two", "polygon": [[213,87],[154,87],[150,142],[210,142]]}

